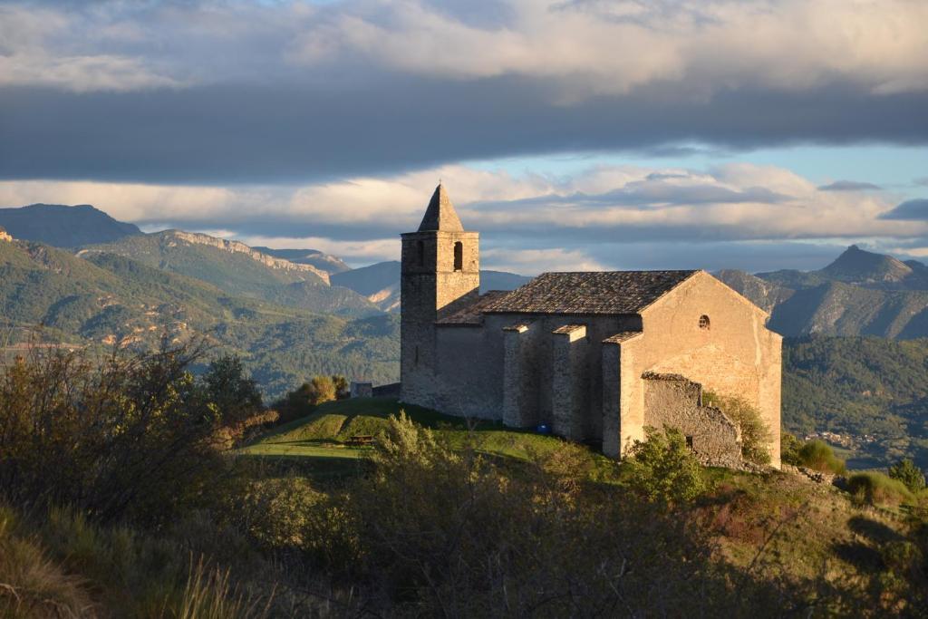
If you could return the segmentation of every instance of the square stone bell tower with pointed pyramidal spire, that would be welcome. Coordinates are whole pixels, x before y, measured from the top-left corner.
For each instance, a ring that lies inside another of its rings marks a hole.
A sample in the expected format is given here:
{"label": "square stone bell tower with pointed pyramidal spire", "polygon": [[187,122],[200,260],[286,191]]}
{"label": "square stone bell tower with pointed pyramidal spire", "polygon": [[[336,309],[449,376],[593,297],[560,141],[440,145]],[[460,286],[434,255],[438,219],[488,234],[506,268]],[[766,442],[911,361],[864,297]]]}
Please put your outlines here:
{"label": "square stone bell tower with pointed pyramidal spire", "polygon": [[480,235],[465,232],[445,187],[435,187],[416,232],[401,235],[400,399],[434,406],[435,321],[480,295]]}

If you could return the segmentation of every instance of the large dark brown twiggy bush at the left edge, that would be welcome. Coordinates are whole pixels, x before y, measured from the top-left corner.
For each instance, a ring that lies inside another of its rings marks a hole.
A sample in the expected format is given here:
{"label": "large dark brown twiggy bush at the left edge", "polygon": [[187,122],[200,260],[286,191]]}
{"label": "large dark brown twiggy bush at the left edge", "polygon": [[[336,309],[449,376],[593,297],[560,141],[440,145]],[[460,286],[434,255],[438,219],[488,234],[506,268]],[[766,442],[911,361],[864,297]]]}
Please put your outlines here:
{"label": "large dark brown twiggy bush at the left edge", "polygon": [[11,502],[151,524],[221,493],[220,431],[251,406],[211,399],[215,373],[204,381],[188,371],[203,354],[164,346],[99,366],[81,352],[3,370],[0,490]]}

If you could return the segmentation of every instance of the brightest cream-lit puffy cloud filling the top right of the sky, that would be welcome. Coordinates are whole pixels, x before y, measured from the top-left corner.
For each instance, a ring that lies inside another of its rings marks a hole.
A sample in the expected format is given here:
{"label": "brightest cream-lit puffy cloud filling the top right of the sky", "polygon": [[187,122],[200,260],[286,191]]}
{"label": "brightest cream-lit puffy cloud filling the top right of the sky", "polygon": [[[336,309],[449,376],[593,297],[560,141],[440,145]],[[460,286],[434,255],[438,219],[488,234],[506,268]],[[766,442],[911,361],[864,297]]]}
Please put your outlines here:
{"label": "brightest cream-lit puffy cloud filling the top right of the sky", "polygon": [[311,64],[360,55],[443,77],[571,78],[590,92],[688,81],[693,92],[835,77],[881,93],[928,87],[928,5],[911,0],[510,0],[505,23],[472,25],[405,0],[342,3],[300,37]]}

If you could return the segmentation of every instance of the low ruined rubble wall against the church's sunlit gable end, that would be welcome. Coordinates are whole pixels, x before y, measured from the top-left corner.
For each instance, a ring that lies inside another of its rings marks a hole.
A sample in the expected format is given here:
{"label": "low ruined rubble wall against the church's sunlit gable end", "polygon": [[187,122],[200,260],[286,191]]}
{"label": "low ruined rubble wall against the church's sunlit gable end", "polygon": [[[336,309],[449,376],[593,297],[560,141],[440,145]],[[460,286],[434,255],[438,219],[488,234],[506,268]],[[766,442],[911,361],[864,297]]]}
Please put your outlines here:
{"label": "low ruined rubble wall against the church's sunlit gable end", "polygon": [[702,385],[678,374],[647,373],[644,382],[644,425],[677,428],[702,464],[741,465],[738,426],[718,408],[702,406]]}

